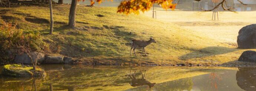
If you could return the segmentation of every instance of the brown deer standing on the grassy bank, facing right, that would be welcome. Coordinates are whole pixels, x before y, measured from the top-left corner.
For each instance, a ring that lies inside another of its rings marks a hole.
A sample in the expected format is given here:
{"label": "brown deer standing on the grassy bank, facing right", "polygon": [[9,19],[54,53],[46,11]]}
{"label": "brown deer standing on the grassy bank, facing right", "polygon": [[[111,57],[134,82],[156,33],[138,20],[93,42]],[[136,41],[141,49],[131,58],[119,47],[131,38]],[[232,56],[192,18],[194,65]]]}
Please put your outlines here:
{"label": "brown deer standing on the grassy bank, facing right", "polygon": [[151,43],[157,43],[157,42],[155,41],[154,38],[150,38],[149,41],[142,41],[142,40],[133,39],[131,41],[131,45],[132,45],[132,47],[131,47],[131,56],[132,56],[132,49],[133,49],[133,52],[134,52],[135,56],[137,56],[136,53],[135,53],[135,50],[138,47],[142,48],[141,56],[142,56],[143,51],[145,51],[145,55],[147,56],[146,46],[150,45]]}

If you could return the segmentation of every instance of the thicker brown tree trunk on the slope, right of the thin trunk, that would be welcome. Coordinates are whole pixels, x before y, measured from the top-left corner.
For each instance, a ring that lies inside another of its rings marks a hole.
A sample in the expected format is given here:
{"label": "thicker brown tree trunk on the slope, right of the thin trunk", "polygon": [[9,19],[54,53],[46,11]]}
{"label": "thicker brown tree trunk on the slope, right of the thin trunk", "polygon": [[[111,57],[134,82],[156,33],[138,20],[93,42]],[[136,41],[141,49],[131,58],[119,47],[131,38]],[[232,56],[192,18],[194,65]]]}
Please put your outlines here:
{"label": "thicker brown tree trunk on the slope, right of the thin trunk", "polygon": [[77,4],[77,0],[72,0],[70,11],[69,11],[69,22],[68,22],[68,25],[71,28],[75,28],[76,4]]}

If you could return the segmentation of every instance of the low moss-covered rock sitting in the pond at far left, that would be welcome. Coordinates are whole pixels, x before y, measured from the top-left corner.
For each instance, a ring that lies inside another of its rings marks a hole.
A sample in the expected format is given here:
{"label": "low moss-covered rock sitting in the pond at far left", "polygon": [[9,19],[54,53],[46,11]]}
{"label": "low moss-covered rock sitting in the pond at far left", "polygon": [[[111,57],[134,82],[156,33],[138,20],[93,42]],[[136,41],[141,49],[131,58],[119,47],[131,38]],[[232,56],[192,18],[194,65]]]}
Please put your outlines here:
{"label": "low moss-covered rock sitting in the pond at far left", "polygon": [[45,77],[46,73],[40,68],[33,70],[33,67],[21,64],[7,64],[3,66],[2,73],[14,77]]}

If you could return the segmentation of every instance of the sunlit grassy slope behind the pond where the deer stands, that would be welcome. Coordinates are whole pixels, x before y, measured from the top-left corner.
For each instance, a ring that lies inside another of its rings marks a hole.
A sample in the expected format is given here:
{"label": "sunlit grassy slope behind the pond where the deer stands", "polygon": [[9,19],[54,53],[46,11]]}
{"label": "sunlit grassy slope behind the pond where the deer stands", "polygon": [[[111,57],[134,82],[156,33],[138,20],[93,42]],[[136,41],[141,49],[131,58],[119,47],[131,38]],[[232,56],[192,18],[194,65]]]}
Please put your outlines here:
{"label": "sunlit grassy slope behind the pond where the deer stands", "polygon": [[[85,63],[94,60],[112,64],[222,64],[237,60],[243,52],[236,46],[220,43],[170,22],[144,15],[118,14],[114,7],[78,6],[76,28],[71,29],[66,26],[69,7],[53,7],[53,35],[48,35],[50,25],[46,22],[49,22],[50,14],[46,7],[0,8],[5,11],[0,14],[0,21],[12,21],[25,31],[39,31],[52,49],[57,50],[55,46],[60,46],[60,52],[52,54],[74,57]],[[6,16],[12,17],[4,18]],[[150,37],[157,43],[147,46],[148,56],[140,56],[141,49],[137,50],[138,57],[129,55],[132,39],[149,40]]]}

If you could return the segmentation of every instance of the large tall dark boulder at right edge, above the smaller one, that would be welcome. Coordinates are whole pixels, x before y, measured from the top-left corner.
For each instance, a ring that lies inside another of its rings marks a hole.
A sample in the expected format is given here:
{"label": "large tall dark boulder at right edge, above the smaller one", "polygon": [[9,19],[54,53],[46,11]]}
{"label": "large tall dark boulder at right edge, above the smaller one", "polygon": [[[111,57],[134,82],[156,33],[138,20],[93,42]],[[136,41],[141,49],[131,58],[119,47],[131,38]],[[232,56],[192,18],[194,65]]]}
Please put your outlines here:
{"label": "large tall dark boulder at right edge, above the smaller one", "polygon": [[256,24],[247,25],[239,30],[237,36],[238,48],[256,48]]}

